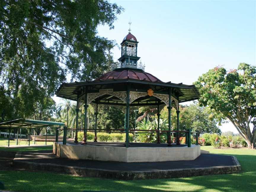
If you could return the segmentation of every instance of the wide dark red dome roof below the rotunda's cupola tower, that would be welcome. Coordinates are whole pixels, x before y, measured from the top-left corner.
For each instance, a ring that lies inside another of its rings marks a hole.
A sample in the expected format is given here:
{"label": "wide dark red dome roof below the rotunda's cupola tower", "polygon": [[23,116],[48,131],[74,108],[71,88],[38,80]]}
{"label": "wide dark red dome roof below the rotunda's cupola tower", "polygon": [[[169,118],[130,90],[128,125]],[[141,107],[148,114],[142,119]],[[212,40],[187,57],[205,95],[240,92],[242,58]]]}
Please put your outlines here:
{"label": "wide dark red dome roof below the rotunda's cupola tower", "polygon": [[140,69],[117,68],[107,72],[94,81],[134,79],[140,81],[162,82],[160,79]]}

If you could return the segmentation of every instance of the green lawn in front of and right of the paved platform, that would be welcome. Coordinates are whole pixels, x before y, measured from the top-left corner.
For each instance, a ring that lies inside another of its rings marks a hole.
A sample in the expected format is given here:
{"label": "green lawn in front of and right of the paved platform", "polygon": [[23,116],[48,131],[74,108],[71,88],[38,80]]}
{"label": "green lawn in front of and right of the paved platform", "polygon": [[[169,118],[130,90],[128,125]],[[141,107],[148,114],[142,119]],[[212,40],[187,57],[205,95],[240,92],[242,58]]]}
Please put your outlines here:
{"label": "green lawn in front of and right of the paved platform", "polygon": [[203,146],[201,149],[209,150],[210,153],[236,156],[242,166],[242,172],[229,175],[209,175],[179,179],[121,181],[50,172],[0,171],[0,181],[5,183],[7,190],[23,192],[81,192],[84,190],[116,192],[256,191],[256,150],[214,149],[212,146]]}

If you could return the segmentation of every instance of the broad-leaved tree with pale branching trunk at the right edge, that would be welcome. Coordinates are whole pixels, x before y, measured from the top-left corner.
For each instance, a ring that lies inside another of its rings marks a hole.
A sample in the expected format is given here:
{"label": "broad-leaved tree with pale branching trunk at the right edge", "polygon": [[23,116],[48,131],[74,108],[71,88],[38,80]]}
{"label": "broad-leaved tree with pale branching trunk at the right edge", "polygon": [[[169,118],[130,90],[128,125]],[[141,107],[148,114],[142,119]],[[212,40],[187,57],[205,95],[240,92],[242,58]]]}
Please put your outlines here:
{"label": "broad-leaved tree with pale branching trunk at the right edge", "polygon": [[195,85],[201,95],[200,104],[209,106],[212,117],[231,121],[248,147],[255,148],[256,67],[240,63],[238,70],[241,73],[215,67],[200,76]]}

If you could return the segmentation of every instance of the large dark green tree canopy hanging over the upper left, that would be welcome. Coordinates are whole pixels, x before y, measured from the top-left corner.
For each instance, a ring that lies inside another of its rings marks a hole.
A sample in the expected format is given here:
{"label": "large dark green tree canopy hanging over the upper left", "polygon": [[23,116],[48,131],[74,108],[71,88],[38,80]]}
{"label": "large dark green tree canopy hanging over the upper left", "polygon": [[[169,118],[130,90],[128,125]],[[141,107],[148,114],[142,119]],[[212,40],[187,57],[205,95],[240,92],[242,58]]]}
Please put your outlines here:
{"label": "large dark green tree canopy hanging over the upper left", "polygon": [[104,0],[2,0],[0,88],[12,100],[12,118],[33,114],[66,73],[81,81],[103,73],[114,42],[98,36],[97,26],[113,28],[122,10]]}

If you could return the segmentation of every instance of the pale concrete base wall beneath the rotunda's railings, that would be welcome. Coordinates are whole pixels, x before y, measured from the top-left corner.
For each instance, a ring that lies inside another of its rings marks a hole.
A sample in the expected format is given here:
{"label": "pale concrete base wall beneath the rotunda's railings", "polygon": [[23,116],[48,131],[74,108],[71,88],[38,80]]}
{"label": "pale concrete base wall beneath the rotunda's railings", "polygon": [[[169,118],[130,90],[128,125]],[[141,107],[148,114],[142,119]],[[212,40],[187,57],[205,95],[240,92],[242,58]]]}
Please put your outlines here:
{"label": "pale concrete base wall beneath the rotunda's railings", "polygon": [[115,147],[93,145],[63,145],[54,143],[53,153],[68,159],[88,159],[120,162],[158,162],[194,160],[200,156],[200,145],[191,147]]}

